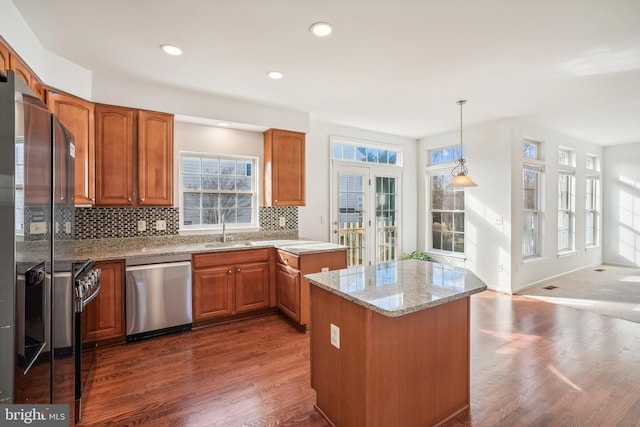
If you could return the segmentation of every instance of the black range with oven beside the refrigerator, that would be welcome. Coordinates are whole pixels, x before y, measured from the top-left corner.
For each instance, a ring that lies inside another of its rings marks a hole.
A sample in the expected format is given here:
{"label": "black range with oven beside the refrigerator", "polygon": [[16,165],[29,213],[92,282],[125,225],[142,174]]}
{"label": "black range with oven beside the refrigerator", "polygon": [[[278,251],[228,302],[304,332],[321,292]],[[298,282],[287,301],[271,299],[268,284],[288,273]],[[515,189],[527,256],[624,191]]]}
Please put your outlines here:
{"label": "black range with oven beside the refrigerator", "polygon": [[86,260],[74,266],[75,283],[75,421],[82,418],[82,395],[87,378],[95,360],[95,342],[82,342],[82,312],[100,292],[100,274],[93,260]]}

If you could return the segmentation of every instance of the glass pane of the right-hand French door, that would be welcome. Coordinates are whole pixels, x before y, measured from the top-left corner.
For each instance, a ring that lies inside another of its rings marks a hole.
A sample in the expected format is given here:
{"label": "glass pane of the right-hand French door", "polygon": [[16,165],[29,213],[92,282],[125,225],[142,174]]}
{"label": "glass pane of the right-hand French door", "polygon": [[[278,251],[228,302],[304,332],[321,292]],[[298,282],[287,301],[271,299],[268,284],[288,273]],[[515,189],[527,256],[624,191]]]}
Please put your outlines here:
{"label": "glass pane of the right-hand French door", "polygon": [[396,178],[376,177],[376,262],[398,259]]}

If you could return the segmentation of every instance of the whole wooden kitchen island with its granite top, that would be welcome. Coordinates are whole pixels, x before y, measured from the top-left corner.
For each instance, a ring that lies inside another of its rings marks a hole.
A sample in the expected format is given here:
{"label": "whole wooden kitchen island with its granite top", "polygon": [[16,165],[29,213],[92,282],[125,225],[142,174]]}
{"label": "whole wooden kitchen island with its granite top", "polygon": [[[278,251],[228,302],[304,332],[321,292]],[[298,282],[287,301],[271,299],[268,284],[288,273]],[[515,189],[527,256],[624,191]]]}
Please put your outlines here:
{"label": "whole wooden kitchen island with its granite top", "polygon": [[469,410],[464,268],[394,261],[305,276],[311,286],[311,386],[336,427],[433,426]]}

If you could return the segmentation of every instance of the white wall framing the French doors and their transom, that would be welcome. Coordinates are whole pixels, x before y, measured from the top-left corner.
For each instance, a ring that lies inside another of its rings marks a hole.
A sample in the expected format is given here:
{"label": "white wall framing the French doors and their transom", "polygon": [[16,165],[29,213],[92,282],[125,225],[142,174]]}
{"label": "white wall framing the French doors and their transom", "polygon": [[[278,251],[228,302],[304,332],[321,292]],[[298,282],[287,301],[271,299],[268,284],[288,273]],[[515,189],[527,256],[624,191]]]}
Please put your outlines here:
{"label": "white wall framing the French doors and their transom", "polygon": [[[404,167],[402,176],[402,251],[416,248],[414,224],[417,221],[416,185],[416,140],[401,136],[383,134],[362,129],[311,122],[306,145],[307,203],[299,210],[300,236],[314,240],[330,241],[332,228],[330,212],[330,138],[339,136],[358,139],[381,145],[395,145],[403,151]],[[325,218],[322,223],[321,219]]]}

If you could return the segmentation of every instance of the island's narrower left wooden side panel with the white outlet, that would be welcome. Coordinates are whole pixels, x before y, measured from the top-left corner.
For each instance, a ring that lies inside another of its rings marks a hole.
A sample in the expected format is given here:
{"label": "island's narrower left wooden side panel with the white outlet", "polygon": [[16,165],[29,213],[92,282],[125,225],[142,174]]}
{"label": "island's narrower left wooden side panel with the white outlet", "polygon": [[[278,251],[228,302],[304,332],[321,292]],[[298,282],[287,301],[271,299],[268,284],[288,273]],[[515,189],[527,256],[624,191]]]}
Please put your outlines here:
{"label": "island's narrower left wooden side panel with the white outlet", "polygon": [[[316,406],[335,426],[365,425],[367,309],[311,286],[311,386]],[[340,348],[330,325],[340,328]]]}

